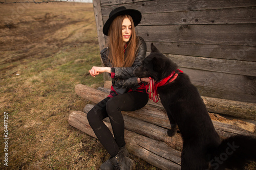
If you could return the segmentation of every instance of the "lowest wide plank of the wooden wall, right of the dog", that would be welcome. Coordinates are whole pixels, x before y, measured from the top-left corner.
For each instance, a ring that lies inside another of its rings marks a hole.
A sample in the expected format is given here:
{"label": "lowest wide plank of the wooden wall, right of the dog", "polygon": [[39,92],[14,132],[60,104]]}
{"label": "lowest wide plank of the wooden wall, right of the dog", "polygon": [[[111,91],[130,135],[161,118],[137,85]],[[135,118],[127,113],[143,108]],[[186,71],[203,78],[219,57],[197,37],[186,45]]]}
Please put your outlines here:
{"label": "lowest wide plank of the wooden wall, right of the dog", "polygon": [[250,76],[180,67],[200,94],[211,98],[256,103],[256,79]]}

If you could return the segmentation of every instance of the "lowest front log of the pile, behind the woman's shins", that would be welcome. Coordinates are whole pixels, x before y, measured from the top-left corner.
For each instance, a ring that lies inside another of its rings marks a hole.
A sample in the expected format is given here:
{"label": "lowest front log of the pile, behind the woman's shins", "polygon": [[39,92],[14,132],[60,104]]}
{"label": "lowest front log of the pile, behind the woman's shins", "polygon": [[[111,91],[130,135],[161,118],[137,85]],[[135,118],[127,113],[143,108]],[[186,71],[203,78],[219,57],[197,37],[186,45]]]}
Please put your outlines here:
{"label": "lowest front log of the pile, behind the woman's shins", "polygon": [[[71,126],[96,138],[88,123],[86,113],[72,111],[69,115],[68,122]],[[112,132],[111,124],[104,123]],[[162,169],[180,169],[181,153],[179,151],[168,147],[168,145],[163,142],[128,130],[125,130],[124,135],[127,150],[130,153]]]}

